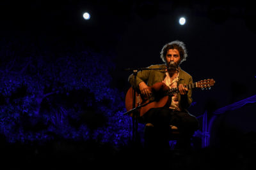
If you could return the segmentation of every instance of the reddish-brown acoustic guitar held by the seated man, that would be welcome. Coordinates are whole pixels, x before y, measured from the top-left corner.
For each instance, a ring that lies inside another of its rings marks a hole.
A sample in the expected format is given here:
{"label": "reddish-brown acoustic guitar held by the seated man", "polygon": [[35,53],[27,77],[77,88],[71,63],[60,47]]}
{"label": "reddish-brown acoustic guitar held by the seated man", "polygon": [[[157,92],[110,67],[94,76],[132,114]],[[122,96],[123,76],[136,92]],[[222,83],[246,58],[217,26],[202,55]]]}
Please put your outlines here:
{"label": "reddish-brown acoustic guitar held by the seated man", "polygon": [[[213,79],[201,80],[195,83],[191,83],[186,85],[185,87],[188,89],[200,88],[211,89],[214,85],[215,81]],[[132,107],[133,101],[133,93],[134,88],[130,87],[125,96],[125,108],[127,110],[127,114],[132,117],[133,111],[138,111],[140,113],[140,117],[142,117],[148,110],[151,108],[161,108],[164,106],[170,106],[172,99],[172,95],[175,93],[179,93],[178,88],[170,89],[167,85],[162,82],[155,83],[151,87],[148,87],[151,95],[150,97],[143,96],[140,93],[140,90],[136,90],[135,92],[135,108]]]}

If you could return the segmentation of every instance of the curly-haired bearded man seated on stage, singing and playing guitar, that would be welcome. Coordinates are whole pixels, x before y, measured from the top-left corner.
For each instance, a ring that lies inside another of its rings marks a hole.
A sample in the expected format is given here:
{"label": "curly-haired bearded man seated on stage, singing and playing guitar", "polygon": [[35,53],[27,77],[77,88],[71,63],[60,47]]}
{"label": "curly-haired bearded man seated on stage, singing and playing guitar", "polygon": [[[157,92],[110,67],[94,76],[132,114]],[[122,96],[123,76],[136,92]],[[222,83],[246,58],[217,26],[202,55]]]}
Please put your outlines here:
{"label": "curly-haired bearded man seated on stage, singing and playing guitar", "polygon": [[[188,57],[186,46],[182,41],[172,41],[163,46],[161,59],[165,64],[157,64],[139,71],[136,76],[136,87],[142,96],[150,97],[150,88],[155,83],[163,82],[170,89],[179,92],[169,97],[170,104],[161,108],[151,108],[142,118],[145,121],[145,146],[147,148],[169,148],[171,127],[177,127],[180,135],[175,148],[189,149],[190,139],[198,128],[198,120],[190,115],[188,108],[192,103],[192,91],[186,85],[193,83],[192,76],[180,68],[180,64]],[[134,76],[129,76],[133,85]]]}

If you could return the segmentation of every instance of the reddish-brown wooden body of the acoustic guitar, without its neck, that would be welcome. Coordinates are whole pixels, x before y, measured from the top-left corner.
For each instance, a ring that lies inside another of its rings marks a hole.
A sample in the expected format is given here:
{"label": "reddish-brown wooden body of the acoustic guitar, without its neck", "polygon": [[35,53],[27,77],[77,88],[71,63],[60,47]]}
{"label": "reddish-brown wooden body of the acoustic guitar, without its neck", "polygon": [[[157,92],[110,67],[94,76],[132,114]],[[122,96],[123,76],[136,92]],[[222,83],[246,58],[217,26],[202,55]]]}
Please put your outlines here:
{"label": "reddish-brown wooden body of the acoustic guitar, without its neck", "polygon": [[[146,106],[141,107],[138,109],[140,113],[140,117],[142,117],[148,110],[151,108],[161,108],[164,106],[170,106],[171,100],[169,96],[164,96],[164,91],[168,90],[169,87],[166,86],[164,83],[159,82],[155,83],[153,86],[148,87],[149,90],[152,92],[152,96],[149,98],[140,94],[140,92],[136,91],[136,98],[135,98],[135,108],[141,106],[143,104],[147,104]],[[125,96],[125,108],[127,111],[132,110],[132,103],[133,103],[133,92],[134,89],[130,87],[127,91]],[[129,114],[132,117],[132,113]]]}

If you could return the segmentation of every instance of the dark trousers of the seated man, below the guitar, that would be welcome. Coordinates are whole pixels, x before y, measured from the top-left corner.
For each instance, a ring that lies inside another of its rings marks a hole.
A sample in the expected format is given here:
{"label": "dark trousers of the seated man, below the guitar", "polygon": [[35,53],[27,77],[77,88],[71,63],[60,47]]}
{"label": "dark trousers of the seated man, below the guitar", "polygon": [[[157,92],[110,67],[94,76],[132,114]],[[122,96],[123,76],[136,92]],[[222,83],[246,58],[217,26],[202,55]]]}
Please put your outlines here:
{"label": "dark trousers of the seated man, below the guitar", "polygon": [[168,148],[170,139],[170,125],[179,129],[179,138],[175,148],[190,148],[190,140],[196,129],[198,120],[186,111],[173,111],[169,108],[152,108],[143,119],[154,127],[145,127],[144,139],[146,147]]}

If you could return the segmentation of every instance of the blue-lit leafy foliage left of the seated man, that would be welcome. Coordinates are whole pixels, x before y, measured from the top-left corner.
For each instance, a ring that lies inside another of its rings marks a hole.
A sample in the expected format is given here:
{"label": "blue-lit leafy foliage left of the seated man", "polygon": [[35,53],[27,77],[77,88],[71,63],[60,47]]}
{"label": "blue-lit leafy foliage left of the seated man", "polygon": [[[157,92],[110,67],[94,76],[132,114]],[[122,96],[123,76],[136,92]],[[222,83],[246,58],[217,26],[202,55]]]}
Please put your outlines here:
{"label": "blue-lit leafy foliage left of the seated man", "polygon": [[111,88],[113,56],[83,50],[55,53],[1,40],[0,132],[8,142],[129,140],[124,92]]}

